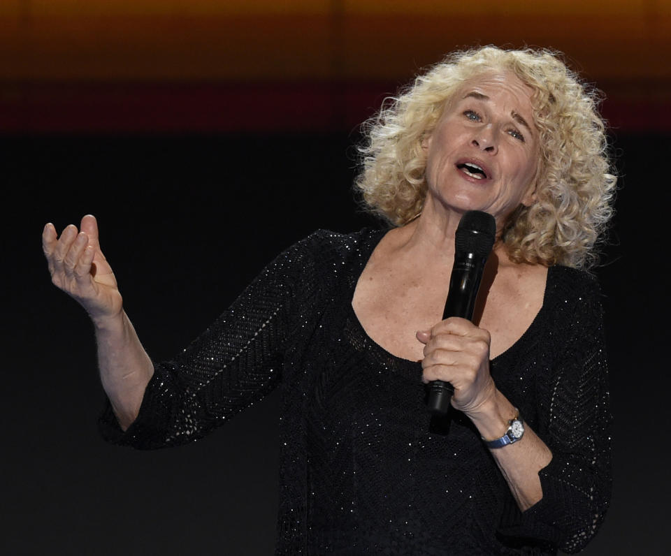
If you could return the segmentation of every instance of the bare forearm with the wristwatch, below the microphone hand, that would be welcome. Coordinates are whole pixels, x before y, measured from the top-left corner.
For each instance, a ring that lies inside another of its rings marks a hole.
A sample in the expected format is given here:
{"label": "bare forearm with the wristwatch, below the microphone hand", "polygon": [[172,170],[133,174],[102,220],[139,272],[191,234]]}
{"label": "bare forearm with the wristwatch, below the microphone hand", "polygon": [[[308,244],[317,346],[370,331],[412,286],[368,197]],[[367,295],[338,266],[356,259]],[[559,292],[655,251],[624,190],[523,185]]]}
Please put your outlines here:
{"label": "bare forearm with the wristwatch, below the microphone hand", "polygon": [[[510,401],[496,390],[496,395],[470,418],[483,438],[493,440],[503,436],[506,423],[514,417],[515,411]],[[503,448],[493,448],[491,454],[521,511],[531,508],[542,499],[538,471],[547,467],[552,460],[552,453],[526,423],[524,436],[519,441]]]}

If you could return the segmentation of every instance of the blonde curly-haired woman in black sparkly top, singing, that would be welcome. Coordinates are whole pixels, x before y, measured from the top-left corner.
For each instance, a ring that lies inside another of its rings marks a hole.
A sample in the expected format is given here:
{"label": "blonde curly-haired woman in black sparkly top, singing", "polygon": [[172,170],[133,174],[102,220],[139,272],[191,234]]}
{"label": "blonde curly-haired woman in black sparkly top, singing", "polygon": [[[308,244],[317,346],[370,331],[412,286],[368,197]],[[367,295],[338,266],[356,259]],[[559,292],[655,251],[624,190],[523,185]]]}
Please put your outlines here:
{"label": "blonde curly-haired woman in black sparkly top, singing", "polygon": [[[182,444],[279,387],[278,554],[580,550],[610,485],[599,293],[579,270],[614,186],[593,98],[549,52],[485,47],[417,78],[368,138],[356,185],[396,227],[287,249],[172,362],[142,349],[93,217],[45,227],[52,281],[96,327],[103,434]],[[496,220],[487,287],[475,323],[441,321],[467,210]],[[432,432],[437,379],[455,411]]]}

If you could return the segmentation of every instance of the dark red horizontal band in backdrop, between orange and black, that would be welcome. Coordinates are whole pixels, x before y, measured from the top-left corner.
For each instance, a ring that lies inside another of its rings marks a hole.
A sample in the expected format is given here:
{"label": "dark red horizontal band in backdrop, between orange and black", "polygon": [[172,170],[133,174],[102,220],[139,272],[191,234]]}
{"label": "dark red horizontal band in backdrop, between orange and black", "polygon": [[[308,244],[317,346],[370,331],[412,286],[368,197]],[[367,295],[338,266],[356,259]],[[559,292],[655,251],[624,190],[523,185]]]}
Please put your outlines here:
{"label": "dark red horizontal band in backdrop, between orange and black", "polygon": [[[352,131],[398,84],[0,85],[0,133],[314,133]],[[609,124],[625,133],[668,133],[663,99],[610,98]]]}

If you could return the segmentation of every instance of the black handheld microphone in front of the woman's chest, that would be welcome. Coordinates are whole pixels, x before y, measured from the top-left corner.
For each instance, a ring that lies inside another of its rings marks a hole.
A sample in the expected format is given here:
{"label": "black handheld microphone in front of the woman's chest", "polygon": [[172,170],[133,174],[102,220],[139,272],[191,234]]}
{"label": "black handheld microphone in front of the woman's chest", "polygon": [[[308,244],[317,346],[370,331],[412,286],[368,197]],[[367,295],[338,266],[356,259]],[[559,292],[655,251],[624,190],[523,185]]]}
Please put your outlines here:
{"label": "black handheld microphone in front of the woman's chest", "polygon": [[[472,321],[482,271],[496,239],[496,221],[491,214],[469,210],[463,214],[454,235],[454,266],[442,320],[460,316]],[[445,415],[454,388],[440,380],[428,383],[428,410]]]}

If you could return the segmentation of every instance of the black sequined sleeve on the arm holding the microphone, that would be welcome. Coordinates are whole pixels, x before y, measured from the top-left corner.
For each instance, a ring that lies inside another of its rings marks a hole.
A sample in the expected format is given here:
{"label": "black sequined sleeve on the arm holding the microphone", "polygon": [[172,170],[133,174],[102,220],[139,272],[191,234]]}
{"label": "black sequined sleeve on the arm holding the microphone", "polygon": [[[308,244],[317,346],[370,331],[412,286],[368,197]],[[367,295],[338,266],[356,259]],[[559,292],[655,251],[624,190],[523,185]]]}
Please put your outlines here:
{"label": "black sequined sleeve on the arm holding the microphone", "polygon": [[518,512],[512,520],[516,523],[505,530],[547,539],[566,553],[579,552],[596,534],[612,481],[600,291],[591,279],[583,277],[582,284],[577,292],[567,289],[563,300],[560,296],[563,307],[554,323],[554,341],[564,336],[565,344],[552,372],[537,383],[535,431],[552,452],[551,462],[539,472],[543,497]]}

